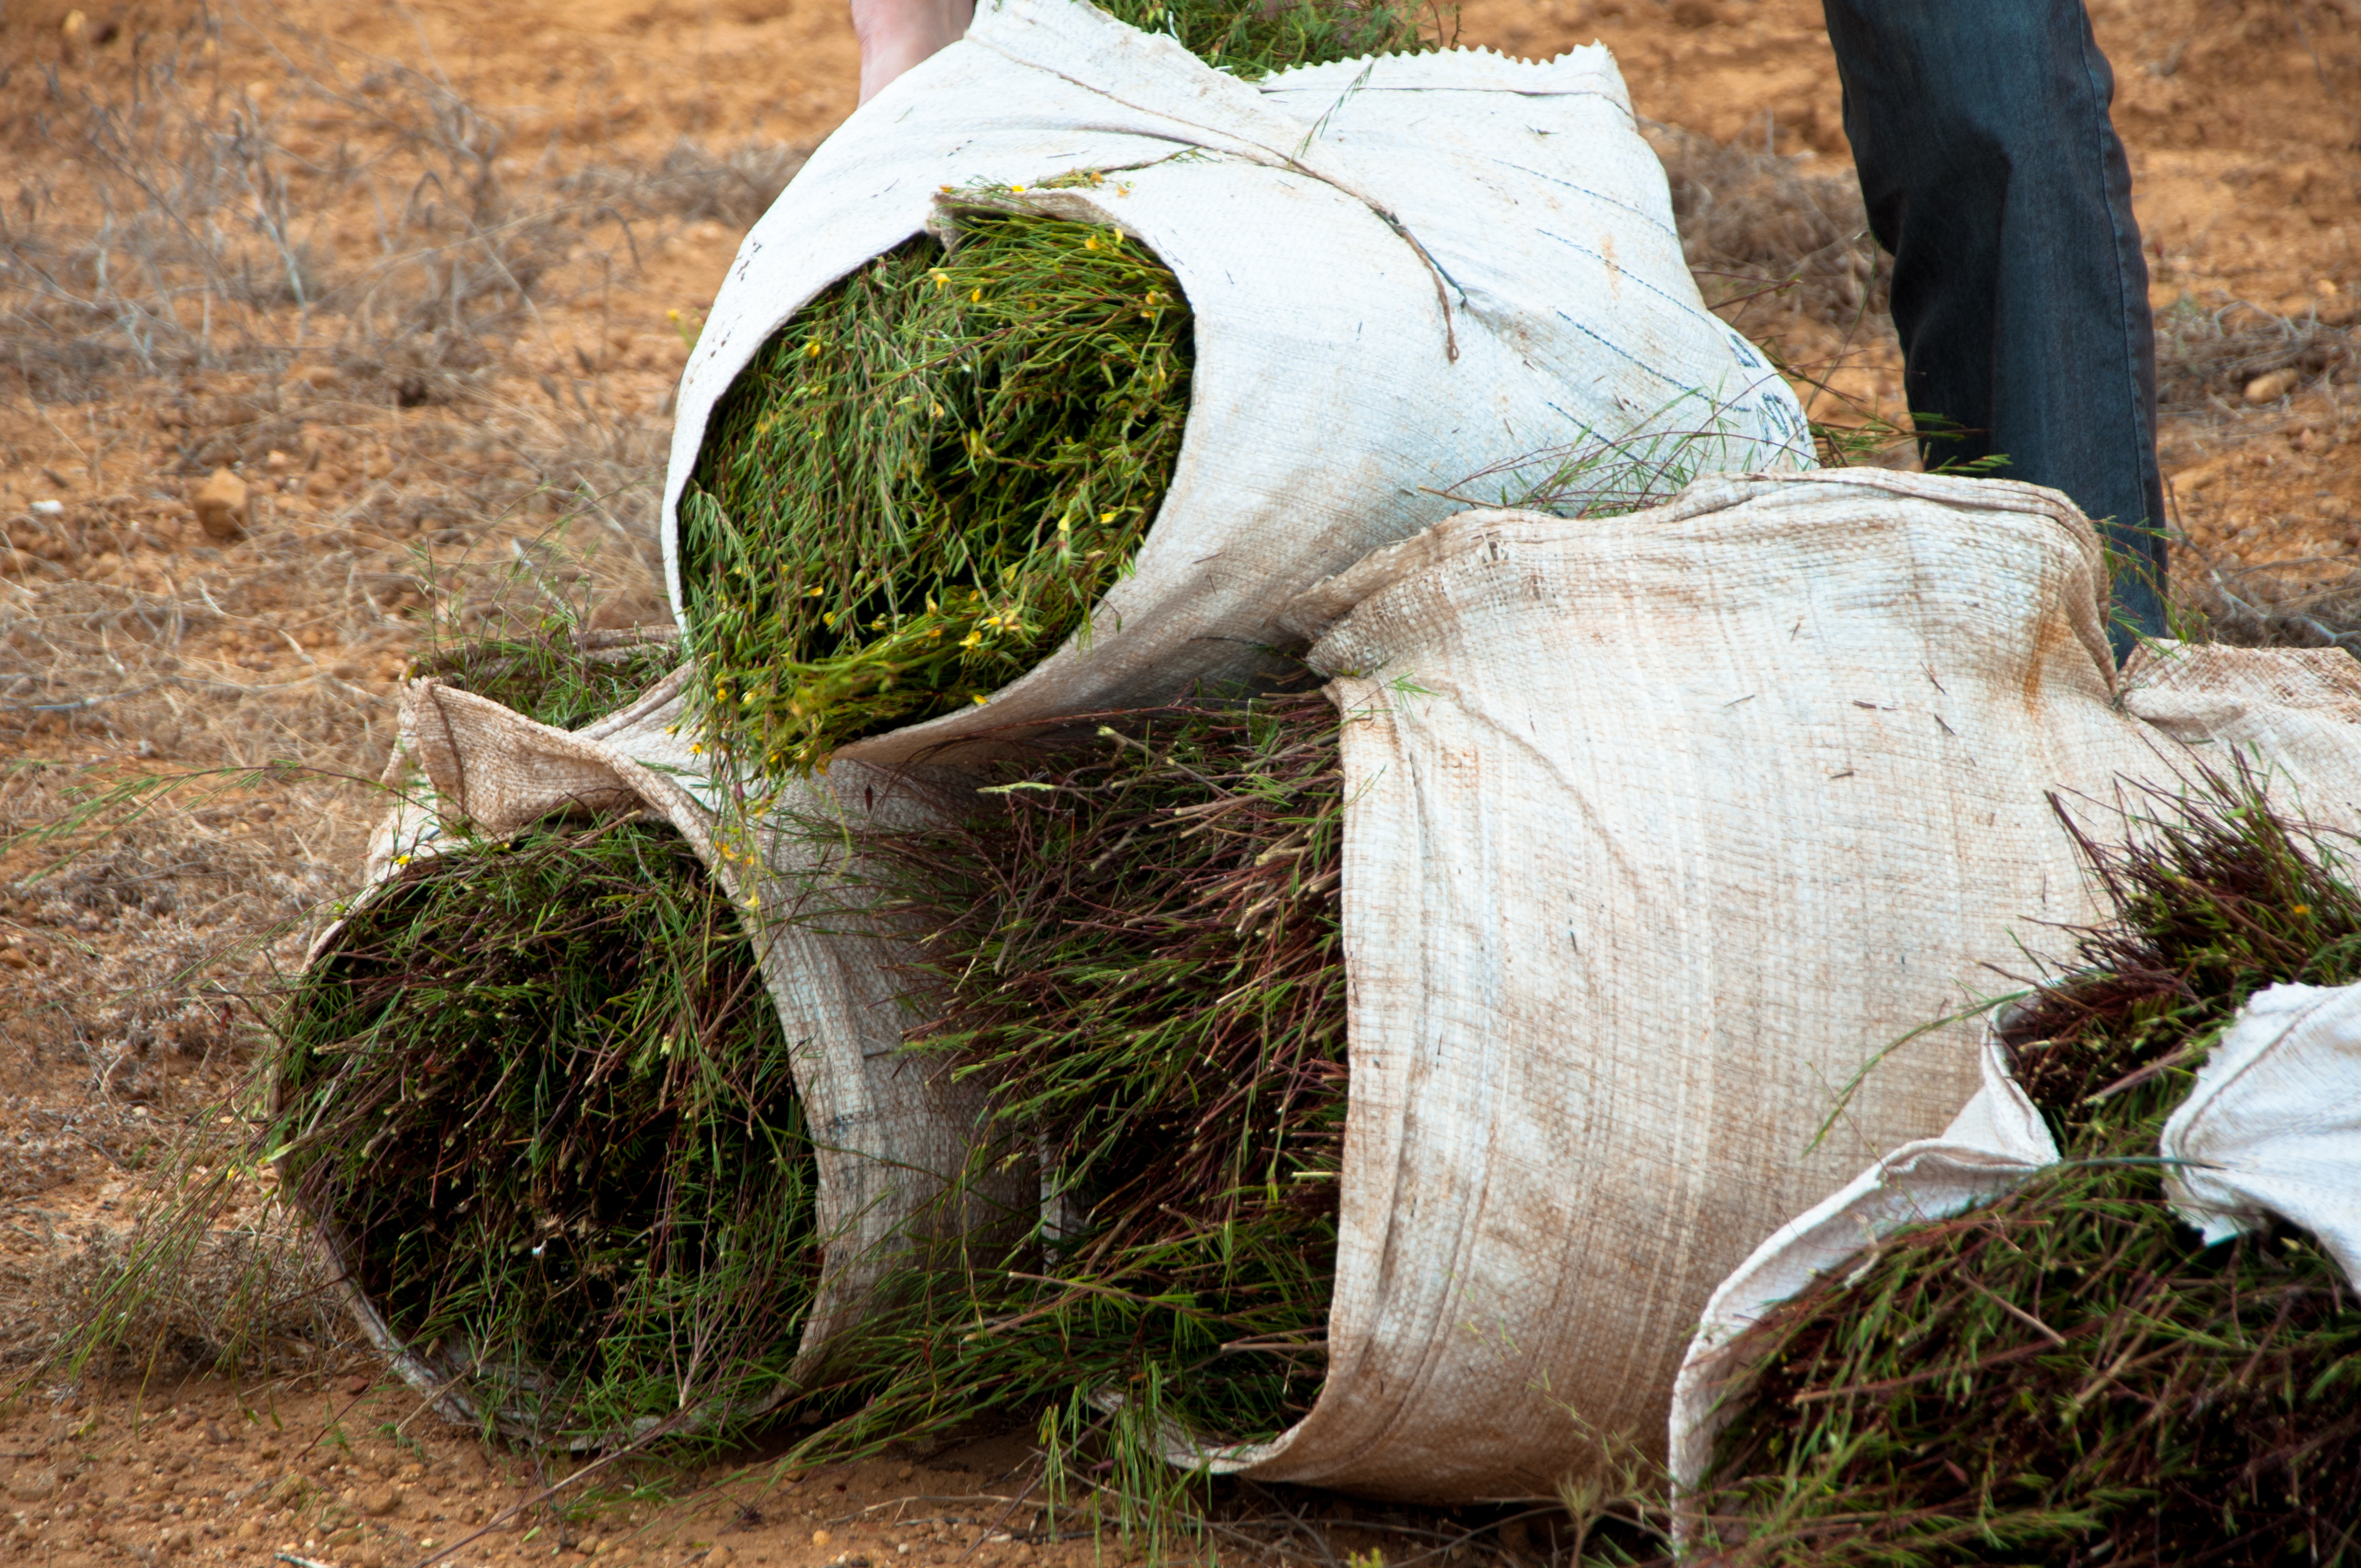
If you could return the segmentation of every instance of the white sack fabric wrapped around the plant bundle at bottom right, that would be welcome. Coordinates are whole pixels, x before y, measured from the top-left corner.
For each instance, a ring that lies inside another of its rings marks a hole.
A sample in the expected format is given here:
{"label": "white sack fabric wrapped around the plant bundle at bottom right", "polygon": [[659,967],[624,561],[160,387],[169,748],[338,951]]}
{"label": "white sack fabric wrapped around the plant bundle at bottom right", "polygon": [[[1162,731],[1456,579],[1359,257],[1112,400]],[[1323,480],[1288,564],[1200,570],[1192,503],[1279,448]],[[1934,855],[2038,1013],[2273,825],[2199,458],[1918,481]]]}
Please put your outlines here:
{"label": "white sack fabric wrapped around the plant bundle at bottom right", "polygon": [[[2165,1193],[2208,1242],[2278,1216],[2316,1235],[2361,1287],[2361,985],[2255,992],[2165,1119],[2158,1155],[2186,1162],[2165,1178]],[[1695,1528],[1683,1502],[1731,1419],[1721,1393],[1747,1370],[1745,1332],[1877,1240],[1990,1202],[2056,1159],[2002,1046],[1986,1039],[1983,1089],[1938,1138],[1877,1159],[1731,1270],[1705,1306],[1672,1398],[1674,1518],[1683,1540]]]}

